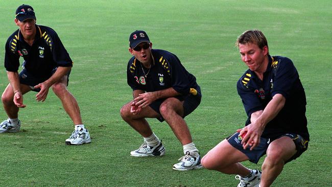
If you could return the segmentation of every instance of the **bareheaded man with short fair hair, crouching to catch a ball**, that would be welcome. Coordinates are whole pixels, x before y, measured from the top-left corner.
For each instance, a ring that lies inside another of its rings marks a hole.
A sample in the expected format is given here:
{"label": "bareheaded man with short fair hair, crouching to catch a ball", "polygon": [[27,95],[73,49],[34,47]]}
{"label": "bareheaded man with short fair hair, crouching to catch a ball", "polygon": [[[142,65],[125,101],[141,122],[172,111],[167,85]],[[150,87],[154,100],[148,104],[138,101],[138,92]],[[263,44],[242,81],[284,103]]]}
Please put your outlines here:
{"label": "bareheaded man with short fair hair, crouching to catch a ball", "polygon": [[[202,164],[206,169],[236,174],[238,187],[267,187],[287,162],[307,149],[304,88],[292,60],[270,56],[262,31],[245,31],[236,40],[236,46],[249,67],[237,84],[248,120],[244,128],[211,149],[202,158]],[[257,163],[265,154],[262,172],[240,163]]]}

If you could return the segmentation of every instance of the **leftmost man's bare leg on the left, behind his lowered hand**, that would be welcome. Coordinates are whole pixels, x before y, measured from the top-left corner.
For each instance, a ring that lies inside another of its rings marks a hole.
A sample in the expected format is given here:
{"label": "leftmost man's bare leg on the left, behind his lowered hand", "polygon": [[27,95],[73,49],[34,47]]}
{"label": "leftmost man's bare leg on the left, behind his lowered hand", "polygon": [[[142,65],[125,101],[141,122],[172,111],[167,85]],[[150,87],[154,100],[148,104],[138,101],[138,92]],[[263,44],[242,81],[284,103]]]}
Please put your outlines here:
{"label": "leftmost man's bare leg on the left, behind his lowered hand", "polygon": [[[20,90],[23,95],[26,92],[30,91],[31,88],[28,85],[20,84]],[[4,109],[8,117],[11,119],[18,118],[18,110],[19,110],[19,108],[14,104],[13,98],[14,98],[13,88],[10,84],[8,84],[5,91],[3,92],[1,100],[4,104]]]}

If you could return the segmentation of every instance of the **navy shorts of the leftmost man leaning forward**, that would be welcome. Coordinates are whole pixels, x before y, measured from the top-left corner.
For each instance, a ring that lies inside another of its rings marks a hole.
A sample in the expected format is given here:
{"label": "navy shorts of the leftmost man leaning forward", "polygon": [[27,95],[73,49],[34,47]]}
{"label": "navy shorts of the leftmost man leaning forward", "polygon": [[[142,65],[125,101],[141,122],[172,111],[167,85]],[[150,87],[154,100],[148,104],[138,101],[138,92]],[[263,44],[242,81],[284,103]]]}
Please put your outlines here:
{"label": "navy shorts of the leftmost man leaning forward", "polygon": [[[55,73],[56,70],[57,70],[57,67],[52,70],[52,75]],[[70,71],[66,74],[67,75],[67,86],[68,86],[68,83],[69,83],[69,74],[70,74]],[[27,69],[24,69],[24,68],[19,73],[19,83],[28,85],[28,86],[31,87],[31,89],[33,91],[37,91],[37,92],[40,91],[40,88],[34,88],[34,86],[48,80],[49,78],[50,77],[36,77],[36,76],[30,74],[27,71]]]}

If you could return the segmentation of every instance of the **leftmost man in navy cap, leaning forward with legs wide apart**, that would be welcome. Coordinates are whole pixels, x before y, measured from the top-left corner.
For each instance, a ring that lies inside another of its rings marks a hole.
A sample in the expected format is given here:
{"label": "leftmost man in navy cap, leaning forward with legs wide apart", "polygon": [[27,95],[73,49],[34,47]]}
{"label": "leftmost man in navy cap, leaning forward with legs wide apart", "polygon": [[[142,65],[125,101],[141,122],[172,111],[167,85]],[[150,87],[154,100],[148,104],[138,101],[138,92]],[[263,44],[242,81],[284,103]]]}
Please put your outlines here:
{"label": "leftmost man in navy cap, leaning forward with legs wide apart", "polygon": [[[23,94],[36,91],[36,100],[44,102],[52,87],[75,124],[75,130],[65,143],[90,143],[90,135],[82,123],[77,101],[66,88],[73,61],[57,33],[49,27],[36,25],[34,9],[29,5],[17,8],[14,21],[19,29],[8,38],[5,46],[5,68],[10,84],[2,95],[2,102],[8,119],[0,124],[0,133],[19,131],[21,122],[18,110],[26,107]],[[18,74],[19,57],[25,61]]]}

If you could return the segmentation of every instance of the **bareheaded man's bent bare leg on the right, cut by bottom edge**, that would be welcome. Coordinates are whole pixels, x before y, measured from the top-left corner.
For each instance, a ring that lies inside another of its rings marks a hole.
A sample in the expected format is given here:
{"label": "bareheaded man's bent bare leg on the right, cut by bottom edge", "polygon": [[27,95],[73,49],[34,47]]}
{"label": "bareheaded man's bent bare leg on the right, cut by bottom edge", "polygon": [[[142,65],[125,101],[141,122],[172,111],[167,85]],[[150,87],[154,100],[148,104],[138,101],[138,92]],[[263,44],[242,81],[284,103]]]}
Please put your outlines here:
{"label": "bareheaded man's bent bare leg on the right, cut by bottom edge", "polygon": [[262,166],[261,187],[270,186],[281,173],[285,161],[296,153],[296,147],[290,137],[283,136],[273,141],[267,150]]}

